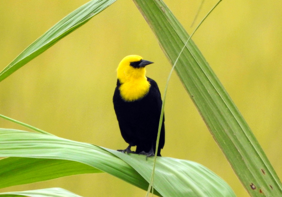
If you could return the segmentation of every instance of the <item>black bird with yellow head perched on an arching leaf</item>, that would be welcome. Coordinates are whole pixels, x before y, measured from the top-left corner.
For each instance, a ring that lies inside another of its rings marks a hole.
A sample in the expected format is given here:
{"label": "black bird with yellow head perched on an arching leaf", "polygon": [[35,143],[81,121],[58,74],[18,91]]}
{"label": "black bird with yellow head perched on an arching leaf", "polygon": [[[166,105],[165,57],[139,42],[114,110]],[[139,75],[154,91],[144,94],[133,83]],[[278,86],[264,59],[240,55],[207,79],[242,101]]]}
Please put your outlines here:
{"label": "black bird with yellow head perched on an arching leaf", "polygon": [[[155,156],[162,99],[157,83],[146,76],[145,66],[153,62],[141,56],[129,55],[117,68],[117,83],[113,95],[114,111],[121,135],[129,144],[120,152]],[[164,147],[164,117],[160,130],[157,156]],[[136,146],[135,151],[131,147]]]}

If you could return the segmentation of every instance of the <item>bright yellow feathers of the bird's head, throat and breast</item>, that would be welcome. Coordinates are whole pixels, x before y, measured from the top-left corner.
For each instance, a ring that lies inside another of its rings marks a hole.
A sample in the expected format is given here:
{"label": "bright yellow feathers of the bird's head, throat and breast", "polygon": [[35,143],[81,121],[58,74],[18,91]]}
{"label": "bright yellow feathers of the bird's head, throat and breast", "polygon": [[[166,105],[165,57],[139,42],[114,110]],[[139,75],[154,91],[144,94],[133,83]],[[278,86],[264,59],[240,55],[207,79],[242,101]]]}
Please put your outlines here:
{"label": "bright yellow feathers of the bird's head, throat and breast", "polygon": [[117,69],[117,78],[120,81],[120,96],[125,101],[135,101],[143,98],[150,89],[145,67],[134,68],[131,62],[138,62],[142,57],[129,55],[122,59]]}

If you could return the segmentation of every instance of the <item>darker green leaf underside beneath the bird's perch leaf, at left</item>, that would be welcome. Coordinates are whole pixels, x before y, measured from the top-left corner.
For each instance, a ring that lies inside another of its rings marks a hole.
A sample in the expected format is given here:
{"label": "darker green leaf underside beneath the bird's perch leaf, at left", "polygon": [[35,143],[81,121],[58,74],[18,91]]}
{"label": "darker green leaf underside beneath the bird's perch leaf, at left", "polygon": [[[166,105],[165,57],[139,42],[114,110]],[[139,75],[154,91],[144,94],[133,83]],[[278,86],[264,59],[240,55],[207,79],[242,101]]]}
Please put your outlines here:
{"label": "darker green leaf underside beneath the bird's perch leaf, at left", "polygon": [[0,169],[0,188],[75,174],[103,172],[77,161],[28,157],[6,157],[1,159]]}

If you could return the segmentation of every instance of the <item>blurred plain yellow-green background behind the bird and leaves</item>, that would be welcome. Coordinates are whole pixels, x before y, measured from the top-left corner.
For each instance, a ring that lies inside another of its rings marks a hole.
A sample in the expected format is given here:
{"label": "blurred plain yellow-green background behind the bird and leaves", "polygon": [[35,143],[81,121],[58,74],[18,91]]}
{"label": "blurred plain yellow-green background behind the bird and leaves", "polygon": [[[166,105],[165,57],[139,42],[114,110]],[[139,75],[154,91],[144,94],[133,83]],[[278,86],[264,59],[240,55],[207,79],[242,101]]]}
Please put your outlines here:
{"label": "blurred plain yellow-green background behind the bird and leaves", "polygon": [[[87,0],[1,0],[0,69]],[[191,34],[217,1],[165,0]],[[204,54],[282,178],[282,2],[222,1],[193,40]],[[118,0],[0,83],[0,113],[75,141],[121,149],[113,109],[116,67],[129,54],[155,62],[147,76],[163,94],[171,69],[133,1]],[[237,196],[248,196],[174,73],[165,106],[162,156],[201,163]],[[18,125],[0,119],[1,128]],[[62,187],[81,196],[145,196],[108,174],[76,175],[1,189]]]}

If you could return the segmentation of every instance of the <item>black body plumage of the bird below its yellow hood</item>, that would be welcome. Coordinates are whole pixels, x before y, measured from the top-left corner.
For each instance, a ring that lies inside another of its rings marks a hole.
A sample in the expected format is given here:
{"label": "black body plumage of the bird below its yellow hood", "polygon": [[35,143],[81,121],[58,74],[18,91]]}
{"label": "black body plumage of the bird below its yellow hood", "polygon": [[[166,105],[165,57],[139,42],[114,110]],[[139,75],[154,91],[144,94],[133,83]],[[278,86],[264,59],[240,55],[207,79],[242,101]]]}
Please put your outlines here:
{"label": "black body plumage of the bird below its yellow hood", "polygon": [[[125,101],[120,96],[119,87],[121,84],[117,80],[113,104],[120,132],[124,140],[129,144],[129,149],[127,148],[123,152],[129,153],[131,152],[130,147],[136,146],[136,154],[152,156],[156,152],[162,99],[157,83],[149,77],[147,77],[147,81],[150,83],[150,88],[144,97],[135,101]],[[157,156],[161,156],[160,150],[164,147],[164,139],[163,118]]]}

